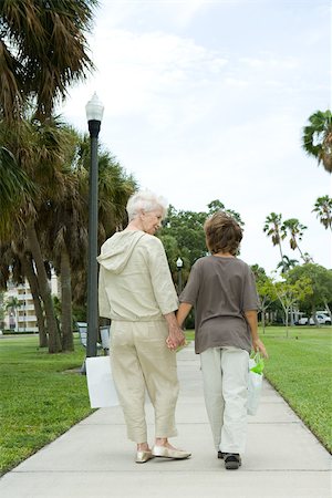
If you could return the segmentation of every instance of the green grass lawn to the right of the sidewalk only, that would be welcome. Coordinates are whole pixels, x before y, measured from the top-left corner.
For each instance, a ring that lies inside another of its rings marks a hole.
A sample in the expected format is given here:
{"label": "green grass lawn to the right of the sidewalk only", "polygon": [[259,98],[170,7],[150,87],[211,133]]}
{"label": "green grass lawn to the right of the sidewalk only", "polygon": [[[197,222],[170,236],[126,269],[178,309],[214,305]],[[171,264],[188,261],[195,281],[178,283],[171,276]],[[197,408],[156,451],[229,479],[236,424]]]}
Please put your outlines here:
{"label": "green grass lawn to the right of the sidewalk only", "polygon": [[260,339],[269,353],[264,376],[331,453],[332,328],[294,326],[287,338],[283,326],[269,326]]}

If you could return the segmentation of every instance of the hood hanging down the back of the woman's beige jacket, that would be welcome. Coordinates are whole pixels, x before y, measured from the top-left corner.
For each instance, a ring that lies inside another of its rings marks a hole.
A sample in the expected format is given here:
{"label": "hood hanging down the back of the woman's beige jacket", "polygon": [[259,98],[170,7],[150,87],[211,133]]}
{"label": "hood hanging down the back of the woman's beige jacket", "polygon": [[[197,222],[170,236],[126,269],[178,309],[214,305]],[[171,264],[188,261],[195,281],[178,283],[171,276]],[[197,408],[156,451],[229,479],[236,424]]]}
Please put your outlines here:
{"label": "hood hanging down the back of the woman's beige jacket", "polygon": [[126,267],[138,240],[145,236],[141,230],[118,231],[103,243],[98,263],[113,273],[121,273]]}

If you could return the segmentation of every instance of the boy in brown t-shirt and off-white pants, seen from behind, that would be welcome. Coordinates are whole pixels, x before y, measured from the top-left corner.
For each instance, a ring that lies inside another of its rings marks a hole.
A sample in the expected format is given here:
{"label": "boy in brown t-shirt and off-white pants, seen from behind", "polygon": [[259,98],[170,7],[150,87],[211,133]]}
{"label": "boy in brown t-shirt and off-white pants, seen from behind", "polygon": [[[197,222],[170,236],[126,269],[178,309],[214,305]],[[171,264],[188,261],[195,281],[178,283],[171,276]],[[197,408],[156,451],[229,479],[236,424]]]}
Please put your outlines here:
{"label": "boy in brown t-shirt and off-white pants, seen from behind", "polygon": [[196,310],[195,352],[200,354],[204,395],[218,458],[238,469],[247,436],[248,363],[251,349],[268,357],[258,336],[253,274],[236,257],[242,230],[218,211],[204,226],[210,256],[191,268],[179,300],[181,326]]}

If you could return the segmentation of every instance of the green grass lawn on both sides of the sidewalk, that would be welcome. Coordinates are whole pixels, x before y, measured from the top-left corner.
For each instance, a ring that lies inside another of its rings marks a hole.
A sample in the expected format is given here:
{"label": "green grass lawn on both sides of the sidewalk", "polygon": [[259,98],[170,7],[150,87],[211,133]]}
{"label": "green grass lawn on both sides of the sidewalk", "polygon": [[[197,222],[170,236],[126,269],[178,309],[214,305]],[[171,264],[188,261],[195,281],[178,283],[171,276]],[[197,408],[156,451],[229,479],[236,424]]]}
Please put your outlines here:
{"label": "green grass lawn on both sides of the sidewalk", "polygon": [[[332,328],[268,328],[261,339],[270,359],[264,374],[331,452]],[[188,339],[194,333],[187,332]],[[35,336],[0,340],[0,474],[86,417],[85,351],[52,354]]]}

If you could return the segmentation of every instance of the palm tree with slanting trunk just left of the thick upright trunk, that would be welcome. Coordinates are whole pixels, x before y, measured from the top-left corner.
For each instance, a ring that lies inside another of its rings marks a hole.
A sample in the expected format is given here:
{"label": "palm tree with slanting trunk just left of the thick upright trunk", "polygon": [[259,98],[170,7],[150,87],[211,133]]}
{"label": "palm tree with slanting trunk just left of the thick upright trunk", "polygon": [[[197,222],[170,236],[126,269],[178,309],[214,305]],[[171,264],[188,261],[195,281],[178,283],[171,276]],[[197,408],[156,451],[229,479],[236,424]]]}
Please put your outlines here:
{"label": "palm tree with slanting trunk just left of the thick upright trunk", "polygon": [[18,126],[7,127],[2,122],[0,141],[9,144],[9,149],[15,151],[15,159],[27,173],[30,180],[39,187],[33,195],[22,196],[20,210],[12,216],[12,234],[21,232],[25,241],[22,255],[32,255],[38,289],[43,301],[49,333],[49,351],[61,351],[58,322],[53,310],[51,289],[44,266],[44,255],[41,247],[39,216],[42,206],[52,199],[61,199],[64,191],[62,174],[71,135],[63,129],[59,120],[44,120],[43,123],[32,118],[21,121]]}

